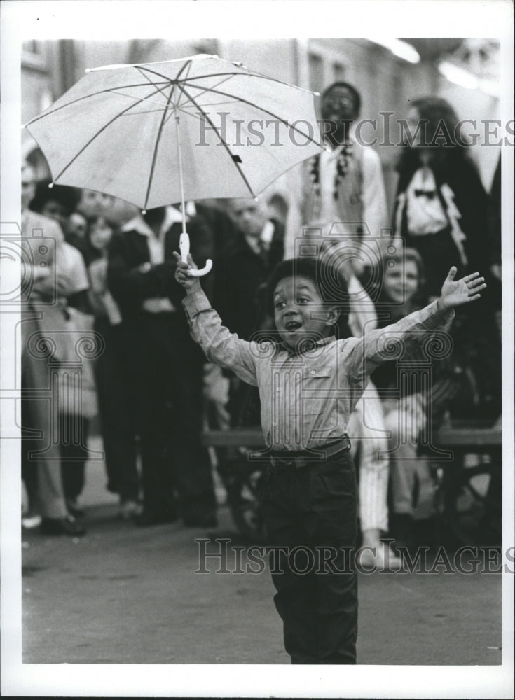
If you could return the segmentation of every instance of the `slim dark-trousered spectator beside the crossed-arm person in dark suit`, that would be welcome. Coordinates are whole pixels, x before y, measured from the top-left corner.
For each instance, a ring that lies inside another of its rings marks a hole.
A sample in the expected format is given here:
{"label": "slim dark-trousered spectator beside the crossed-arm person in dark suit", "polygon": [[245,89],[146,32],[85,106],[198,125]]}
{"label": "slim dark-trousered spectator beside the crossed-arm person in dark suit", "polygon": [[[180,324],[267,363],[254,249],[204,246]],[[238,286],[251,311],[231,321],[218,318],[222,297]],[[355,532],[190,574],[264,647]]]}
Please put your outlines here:
{"label": "slim dark-trousered spectator beside the crossed-arm person in dark suit", "polygon": [[107,287],[107,249],[115,227],[103,216],[88,221],[90,305],[95,331],[104,339],[104,352],[95,363],[107,489],[120,496],[123,519],[139,513],[139,477],[136,464],[135,393],[130,376],[127,326]]}

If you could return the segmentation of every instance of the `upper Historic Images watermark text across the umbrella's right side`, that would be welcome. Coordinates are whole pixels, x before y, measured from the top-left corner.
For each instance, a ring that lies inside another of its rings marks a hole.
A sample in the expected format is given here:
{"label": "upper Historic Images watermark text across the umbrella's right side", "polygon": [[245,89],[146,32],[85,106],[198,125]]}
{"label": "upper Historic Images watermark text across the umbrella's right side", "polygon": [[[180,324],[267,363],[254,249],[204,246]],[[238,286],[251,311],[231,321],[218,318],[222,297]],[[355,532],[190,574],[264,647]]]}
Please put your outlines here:
{"label": "upper Historic Images watermark text across the umbrella's right side", "polygon": [[[308,146],[315,141],[323,146],[336,132],[338,122],[317,120],[316,125],[305,119],[289,123],[280,119],[232,119],[230,112],[197,112],[198,140],[195,146],[228,146],[231,148],[263,146]],[[395,112],[381,111],[379,119],[359,119],[352,123],[353,139],[360,146],[515,146],[515,120],[502,123],[498,119],[460,119],[450,129],[444,120],[436,128],[426,119],[412,125],[406,119],[395,118]],[[345,123],[341,120],[341,123]],[[350,125],[350,122],[347,123]]]}

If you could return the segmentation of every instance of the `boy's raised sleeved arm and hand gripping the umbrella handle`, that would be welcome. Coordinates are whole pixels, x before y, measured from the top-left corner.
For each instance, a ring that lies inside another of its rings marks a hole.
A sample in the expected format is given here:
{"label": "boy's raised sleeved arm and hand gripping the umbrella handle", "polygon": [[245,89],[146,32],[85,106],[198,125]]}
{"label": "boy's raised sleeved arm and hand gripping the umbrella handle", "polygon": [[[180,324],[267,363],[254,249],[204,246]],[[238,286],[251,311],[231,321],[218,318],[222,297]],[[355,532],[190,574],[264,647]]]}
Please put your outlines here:
{"label": "boy's raised sleeved arm and hand gripping the umbrella handle", "polygon": [[198,277],[188,274],[188,270],[197,269],[191,255],[188,255],[188,262],[182,262],[179,253],[174,253],[174,256],[177,259],[175,279],[186,290],[182,303],[193,340],[200,345],[210,362],[233,370],[247,384],[256,386],[256,358],[259,356],[256,343],[240,339],[222,325]]}

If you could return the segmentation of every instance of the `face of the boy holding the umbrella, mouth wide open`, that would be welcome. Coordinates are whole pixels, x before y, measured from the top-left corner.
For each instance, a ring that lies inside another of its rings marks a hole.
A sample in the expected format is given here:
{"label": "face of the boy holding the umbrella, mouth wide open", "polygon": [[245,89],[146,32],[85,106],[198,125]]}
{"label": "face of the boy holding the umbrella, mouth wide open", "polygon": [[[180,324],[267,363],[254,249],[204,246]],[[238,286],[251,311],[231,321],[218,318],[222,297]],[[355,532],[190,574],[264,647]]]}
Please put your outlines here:
{"label": "face of the boy holding the umbrella, mouth wide open", "polygon": [[293,349],[303,340],[317,341],[330,335],[338,317],[335,309],[327,309],[317,286],[308,277],[281,279],[273,293],[273,306],[275,328]]}

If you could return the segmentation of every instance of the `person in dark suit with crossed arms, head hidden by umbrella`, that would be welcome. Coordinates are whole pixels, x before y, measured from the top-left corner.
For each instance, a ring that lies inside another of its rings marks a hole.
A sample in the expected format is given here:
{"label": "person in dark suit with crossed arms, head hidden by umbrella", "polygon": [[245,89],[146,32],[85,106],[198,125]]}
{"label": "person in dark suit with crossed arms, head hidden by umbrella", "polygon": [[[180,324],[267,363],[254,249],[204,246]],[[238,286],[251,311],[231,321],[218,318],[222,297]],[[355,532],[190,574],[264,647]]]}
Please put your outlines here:
{"label": "person in dark suit with crossed arms, head hidden by umbrella", "polygon": [[[184,290],[174,280],[181,213],[160,207],[123,225],[109,246],[109,289],[130,337],[126,353],[137,382],[137,430],[142,449],[141,526],[177,519],[188,526],[216,522],[214,489],[202,430],[202,351],[189,335]],[[191,254],[203,265],[212,234],[188,219]],[[209,275],[202,278],[209,286]]]}

